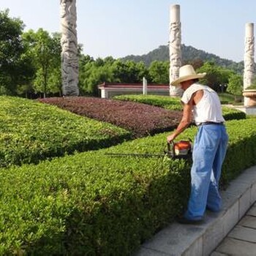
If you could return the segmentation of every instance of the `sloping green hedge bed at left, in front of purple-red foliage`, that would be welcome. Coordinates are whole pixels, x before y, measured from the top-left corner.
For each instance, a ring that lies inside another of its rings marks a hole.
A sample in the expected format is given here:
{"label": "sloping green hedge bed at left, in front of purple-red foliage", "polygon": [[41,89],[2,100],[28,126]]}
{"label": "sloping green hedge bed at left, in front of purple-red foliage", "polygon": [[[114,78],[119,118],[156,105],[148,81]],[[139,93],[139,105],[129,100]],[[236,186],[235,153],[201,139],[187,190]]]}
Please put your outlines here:
{"label": "sloping green hedge bed at left, in front of purple-red foliage", "polygon": [[131,139],[127,130],[31,99],[0,97],[0,167],[37,163]]}

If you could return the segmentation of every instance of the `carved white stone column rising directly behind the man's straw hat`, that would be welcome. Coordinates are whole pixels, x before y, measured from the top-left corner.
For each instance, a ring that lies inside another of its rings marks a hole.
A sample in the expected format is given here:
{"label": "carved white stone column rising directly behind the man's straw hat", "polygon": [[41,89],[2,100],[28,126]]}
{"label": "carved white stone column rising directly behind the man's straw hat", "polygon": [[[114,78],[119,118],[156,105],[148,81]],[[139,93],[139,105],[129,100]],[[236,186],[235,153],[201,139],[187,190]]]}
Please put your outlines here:
{"label": "carved white stone column rising directly behind the man's straw hat", "polygon": [[[181,67],[181,21],[180,6],[178,4],[170,7],[170,82],[178,78],[178,70]],[[181,89],[170,85],[170,96],[180,96]]]}

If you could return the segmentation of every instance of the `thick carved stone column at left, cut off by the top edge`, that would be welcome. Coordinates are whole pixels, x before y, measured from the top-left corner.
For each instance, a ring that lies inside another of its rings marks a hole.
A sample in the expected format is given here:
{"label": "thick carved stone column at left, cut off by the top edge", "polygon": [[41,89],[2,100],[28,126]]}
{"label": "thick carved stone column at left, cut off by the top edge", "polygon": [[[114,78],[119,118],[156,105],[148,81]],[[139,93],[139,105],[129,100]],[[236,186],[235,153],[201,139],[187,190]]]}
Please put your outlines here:
{"label": "thick carved stone column at left, cut off by the top edge", "polygon": [[76,0],[61,3],[61,77],[64,96],[78,96],[78,37]]}

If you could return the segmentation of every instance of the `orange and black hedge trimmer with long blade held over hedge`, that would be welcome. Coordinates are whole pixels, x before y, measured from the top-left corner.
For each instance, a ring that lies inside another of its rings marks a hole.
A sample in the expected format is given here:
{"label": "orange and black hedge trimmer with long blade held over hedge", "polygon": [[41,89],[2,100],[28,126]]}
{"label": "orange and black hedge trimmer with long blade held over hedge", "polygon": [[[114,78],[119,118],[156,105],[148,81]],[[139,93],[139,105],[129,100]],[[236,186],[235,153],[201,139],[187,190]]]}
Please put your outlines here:
{"label": "orange and black hedge trimmer with long blade held over hedge", "polygon": [[[170,147],[172,145],[172,148]],[[167,143],[164,154],[139,154],[139,153],[105,153],[112,157],[170,157],[172,159],[189,159],[192,157],[191,140],[180,140],[176,143]]]}

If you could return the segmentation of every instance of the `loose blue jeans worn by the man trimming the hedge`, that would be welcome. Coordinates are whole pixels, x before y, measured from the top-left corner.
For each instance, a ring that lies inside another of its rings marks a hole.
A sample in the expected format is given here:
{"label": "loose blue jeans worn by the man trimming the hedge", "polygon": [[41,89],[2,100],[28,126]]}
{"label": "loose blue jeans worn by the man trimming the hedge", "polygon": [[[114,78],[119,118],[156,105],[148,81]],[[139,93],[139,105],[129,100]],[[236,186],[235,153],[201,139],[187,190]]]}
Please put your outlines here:
{"label": "loose blue jeans worn by the man trimming the hedge", "polygon": [[206,207],[219,211],[219,178],[227,151],[228,136],[224,125],[207,124],[199,127],[192,152],[191,192],[184,217],[202,219]]}

